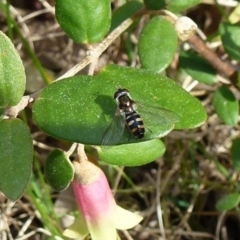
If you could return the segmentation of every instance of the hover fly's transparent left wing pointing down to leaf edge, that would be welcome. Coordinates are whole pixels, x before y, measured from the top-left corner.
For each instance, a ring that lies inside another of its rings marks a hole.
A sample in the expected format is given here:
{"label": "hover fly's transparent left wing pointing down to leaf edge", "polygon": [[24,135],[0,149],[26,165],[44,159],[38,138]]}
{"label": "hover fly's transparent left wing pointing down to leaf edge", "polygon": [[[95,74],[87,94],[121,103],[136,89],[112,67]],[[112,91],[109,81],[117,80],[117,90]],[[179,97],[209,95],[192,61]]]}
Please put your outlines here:
{"label": "hover fly's transparent left wing pointing down to leaf edge", "polygon": [[117,109],[111,124],[103,135],[102,146],[115,145],[118,143],[123,135],[124,129],[125,117]]}

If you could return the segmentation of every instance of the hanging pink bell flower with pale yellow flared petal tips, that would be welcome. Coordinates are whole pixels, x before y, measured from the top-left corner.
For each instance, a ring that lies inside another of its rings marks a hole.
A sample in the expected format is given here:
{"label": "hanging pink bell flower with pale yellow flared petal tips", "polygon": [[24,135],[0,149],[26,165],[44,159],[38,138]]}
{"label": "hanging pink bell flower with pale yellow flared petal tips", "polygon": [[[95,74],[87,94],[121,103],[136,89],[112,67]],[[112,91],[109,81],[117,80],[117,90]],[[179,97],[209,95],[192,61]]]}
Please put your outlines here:
{"label": "hanging pink bell flower with pale yellow flared petal tips", "polygon": [[107,179],[102,170],[89,161],[75,162],[72,182],[80,210],[80,218],[64,231],[70,238],[91,235],[93,240],[115,240],[116,229],[137,225],[142,217],[116,205]]}

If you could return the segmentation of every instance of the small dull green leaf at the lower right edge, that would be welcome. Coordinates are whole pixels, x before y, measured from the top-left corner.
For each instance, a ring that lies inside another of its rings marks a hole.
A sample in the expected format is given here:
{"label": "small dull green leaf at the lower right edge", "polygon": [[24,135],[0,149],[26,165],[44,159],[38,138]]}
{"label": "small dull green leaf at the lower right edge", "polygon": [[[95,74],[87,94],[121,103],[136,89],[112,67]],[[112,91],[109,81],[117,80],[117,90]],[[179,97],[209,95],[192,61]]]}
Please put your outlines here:
{"label": "small dull green leaf at the lower right edge", "polygon": [[238,206],[240,201],[239,193],[230,193],[222,197],[216,204],[218,211],[229,211]]}

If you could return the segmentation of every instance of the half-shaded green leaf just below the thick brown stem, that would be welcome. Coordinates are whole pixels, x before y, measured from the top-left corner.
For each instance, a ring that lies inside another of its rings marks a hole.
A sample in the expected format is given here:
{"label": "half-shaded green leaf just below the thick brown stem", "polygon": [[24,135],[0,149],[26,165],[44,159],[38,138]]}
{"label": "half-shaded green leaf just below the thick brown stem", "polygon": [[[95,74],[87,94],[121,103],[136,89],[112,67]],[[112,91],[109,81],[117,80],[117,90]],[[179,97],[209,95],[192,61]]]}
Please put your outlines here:
{"label": "half-shaded green leaf just below the thick brown stem", "polygon": [[181,52],[179,57],[180,66],[193,79],[205,84],[213,84],[217,82],[216,70],[202,57],[194,52]]}

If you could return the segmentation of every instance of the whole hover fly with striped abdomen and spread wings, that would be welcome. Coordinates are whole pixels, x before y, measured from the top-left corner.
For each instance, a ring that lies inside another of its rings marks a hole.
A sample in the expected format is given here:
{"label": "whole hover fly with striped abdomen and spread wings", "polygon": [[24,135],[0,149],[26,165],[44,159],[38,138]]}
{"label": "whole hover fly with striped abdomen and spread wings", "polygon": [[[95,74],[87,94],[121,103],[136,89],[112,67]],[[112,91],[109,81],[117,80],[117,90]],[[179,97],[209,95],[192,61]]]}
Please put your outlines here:
{"label": "whole hover fly with striped abdomen and spread wings", "polygon": [[[178,115],[172,111],[134,101],[127,89],[119,88],[114,99],[118,105],[117,110],[104,133],[102,146],[117,144],[125,127],[137,139],[144,138],[146,134],[148,139],[151,139],[166,135],[172,130],[174,123],[179,121]],[[160,134],[154,131],[156,127],[158,132],[162,127]]]}

